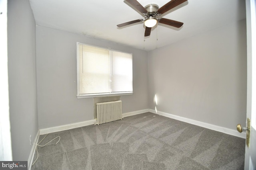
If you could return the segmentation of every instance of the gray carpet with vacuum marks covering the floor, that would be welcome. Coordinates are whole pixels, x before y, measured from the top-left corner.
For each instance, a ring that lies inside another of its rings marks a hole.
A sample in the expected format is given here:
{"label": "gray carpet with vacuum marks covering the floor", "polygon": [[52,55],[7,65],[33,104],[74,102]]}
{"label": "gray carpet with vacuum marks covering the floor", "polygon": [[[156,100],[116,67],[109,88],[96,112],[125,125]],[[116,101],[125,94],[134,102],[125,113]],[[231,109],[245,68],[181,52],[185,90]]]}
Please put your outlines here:
{"label": "gray carpet with vacuum marks covering the floor", "polygon": [[245,139],[154,113],[51,133],[40,145],[57,136],[38,147],[32,170],[244,169]]}

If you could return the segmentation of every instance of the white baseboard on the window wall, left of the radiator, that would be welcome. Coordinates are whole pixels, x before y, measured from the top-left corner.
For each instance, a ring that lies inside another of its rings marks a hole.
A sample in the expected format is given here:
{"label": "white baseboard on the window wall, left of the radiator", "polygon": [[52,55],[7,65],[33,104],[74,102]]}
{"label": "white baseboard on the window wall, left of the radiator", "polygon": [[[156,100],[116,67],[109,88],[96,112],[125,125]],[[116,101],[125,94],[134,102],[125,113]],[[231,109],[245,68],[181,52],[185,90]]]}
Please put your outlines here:
{"label": "white baseboard on the window wall, left of the radiator", "polygon": [[44,135],[48,133],[54,133],[54,132],[65,131],[65,130],[74,129],[78,127],[94,125],[95,122],[96,122],[96,119],[93,119],[93,120],[82,121],[78,123],[72,123],[68,125],[61,125],[61,126],[49,127],[45,129],[39,129],[39,134]]}

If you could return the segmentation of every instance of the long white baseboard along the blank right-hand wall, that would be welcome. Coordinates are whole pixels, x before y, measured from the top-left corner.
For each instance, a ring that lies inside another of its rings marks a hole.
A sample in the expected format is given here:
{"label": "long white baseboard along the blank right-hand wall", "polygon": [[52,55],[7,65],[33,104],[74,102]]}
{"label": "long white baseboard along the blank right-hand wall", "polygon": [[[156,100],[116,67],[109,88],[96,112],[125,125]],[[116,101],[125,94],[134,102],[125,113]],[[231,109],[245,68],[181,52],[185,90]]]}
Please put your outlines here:
{"label": "long white baseboard along the blank right-hand wall", "polygon": [[[153,110],[153,109],[149,109],[149,111],[151,113],[156,113],[156,111]],[[217,125],[212,125],[210,123],[204,123],[204,122],[201,122],[201,121],[188,119],[186,117],[180,117],[180,116],[177,116],[177,115],[172,115],[170,113],[164,113],[162,111],[157,111],[156,114],[162,115],[162,116],[165,116],[165,117],[169,117],[169,118],[172,118],[172,119],[176,119],[176,120],[179,120],[179,121],[184,121],[186,123],[190,123],[190,124],[197,125],[197,126],[200,126],[200,127],[204,127],[204,128],[207,128],[207,129],[211,129],[211,130],[214,130],[214,131],[226,133],[228,135],[233,135],[233,136],[241,137],[241,138],[244,138],[244,139],[246,138],[246,133],[245,132],[239,133],[238,131],[236,131],[234,129],[228,129],[226,127],[220,127],[220,126],[217,126]]]}

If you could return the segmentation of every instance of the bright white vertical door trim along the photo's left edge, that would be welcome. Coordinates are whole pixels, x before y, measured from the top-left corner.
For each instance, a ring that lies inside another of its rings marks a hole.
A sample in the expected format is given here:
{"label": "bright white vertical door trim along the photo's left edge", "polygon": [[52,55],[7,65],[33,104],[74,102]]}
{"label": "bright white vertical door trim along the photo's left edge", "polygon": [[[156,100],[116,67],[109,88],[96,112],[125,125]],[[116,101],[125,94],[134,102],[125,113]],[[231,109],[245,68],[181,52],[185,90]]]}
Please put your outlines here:
{"label": "bright white vertical door trim along the photo's left edge", "polygon": [[0,0],[0,160],[12,160],[7,58],[7,0]]}

